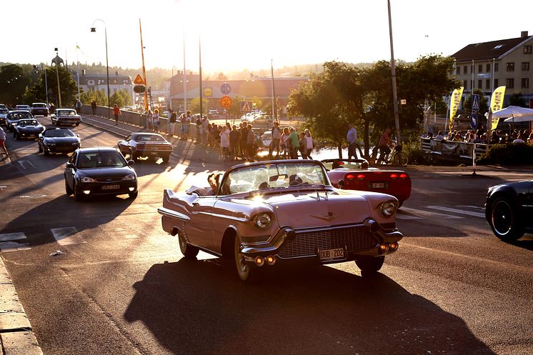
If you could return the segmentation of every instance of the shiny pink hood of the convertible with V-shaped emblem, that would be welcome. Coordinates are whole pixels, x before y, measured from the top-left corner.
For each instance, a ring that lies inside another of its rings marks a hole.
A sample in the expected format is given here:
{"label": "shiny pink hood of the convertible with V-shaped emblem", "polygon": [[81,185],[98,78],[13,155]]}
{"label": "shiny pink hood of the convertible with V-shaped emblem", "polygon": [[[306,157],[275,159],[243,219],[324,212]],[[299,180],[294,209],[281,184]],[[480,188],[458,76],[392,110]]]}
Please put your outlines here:
{"label": "shiny pink hood of the convertible with V-shaped emblem", "polygon": [[279,226],[291,226],[295,229],[362,223],[364,219],[372,216],[371,205],[366,196],[354,191],[336,189],[287,191],[233,201],[250,206],[261,201],[274,211]]}

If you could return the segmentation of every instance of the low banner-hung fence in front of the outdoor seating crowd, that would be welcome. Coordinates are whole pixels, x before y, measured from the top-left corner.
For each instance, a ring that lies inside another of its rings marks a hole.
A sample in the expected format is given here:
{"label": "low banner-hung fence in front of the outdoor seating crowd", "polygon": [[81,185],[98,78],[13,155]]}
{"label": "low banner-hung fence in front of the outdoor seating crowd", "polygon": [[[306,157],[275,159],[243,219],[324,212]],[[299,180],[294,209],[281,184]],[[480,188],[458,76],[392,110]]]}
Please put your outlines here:
{"label": "low banner-hung fence in front of the outdoor seating crowd", "polygon": [[439,141],[437,139],[421,138],[420,146],[424,153],[436,154],[442,157],[457,159],[472,159],[474,148],[476,159],[487,153],[490,144],[467,143],[462,141]]}

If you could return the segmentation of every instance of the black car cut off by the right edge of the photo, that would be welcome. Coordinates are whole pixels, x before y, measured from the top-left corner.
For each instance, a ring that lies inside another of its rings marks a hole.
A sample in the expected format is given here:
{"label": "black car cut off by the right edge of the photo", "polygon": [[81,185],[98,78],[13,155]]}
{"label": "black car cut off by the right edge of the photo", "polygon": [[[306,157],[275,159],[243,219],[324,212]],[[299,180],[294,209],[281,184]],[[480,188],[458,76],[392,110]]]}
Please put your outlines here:
{"label": "black car cut off by the right edge of the photo", "polygon": [[533,180],[492,186],[487,193],[485,218],[494,234],[514,241],[533,233]]}

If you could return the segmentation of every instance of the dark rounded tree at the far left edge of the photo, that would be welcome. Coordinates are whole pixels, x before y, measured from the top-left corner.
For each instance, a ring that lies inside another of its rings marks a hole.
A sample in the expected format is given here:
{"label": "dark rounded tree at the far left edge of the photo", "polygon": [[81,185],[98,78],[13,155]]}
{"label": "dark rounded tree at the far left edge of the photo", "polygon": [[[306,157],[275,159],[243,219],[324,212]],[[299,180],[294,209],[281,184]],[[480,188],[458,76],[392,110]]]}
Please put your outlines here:
{"label": "dark rounded tree at the far left edge of the photo", "polygon": [[25,74],[22,66],[7,64],[0,67],[0,102],[10,106],[21,104],[26,87],[31,84],[31,75]]}

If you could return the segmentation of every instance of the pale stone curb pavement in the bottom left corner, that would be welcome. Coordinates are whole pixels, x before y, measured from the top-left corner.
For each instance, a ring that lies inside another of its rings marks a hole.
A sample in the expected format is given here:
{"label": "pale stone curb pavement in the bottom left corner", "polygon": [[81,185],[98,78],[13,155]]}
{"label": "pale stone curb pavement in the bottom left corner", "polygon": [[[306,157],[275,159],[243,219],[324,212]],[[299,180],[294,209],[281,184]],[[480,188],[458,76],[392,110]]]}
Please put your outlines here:
{"label": "pale stone curb pavement in the bottom left corner", "polygon": [[0,351],[5,355],[42,355],[16,289],[0,257]]}

